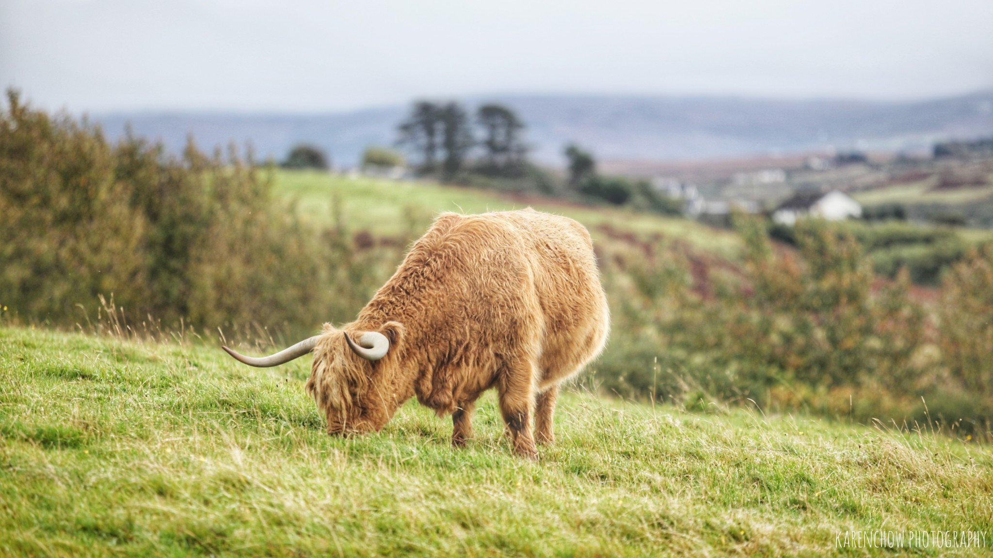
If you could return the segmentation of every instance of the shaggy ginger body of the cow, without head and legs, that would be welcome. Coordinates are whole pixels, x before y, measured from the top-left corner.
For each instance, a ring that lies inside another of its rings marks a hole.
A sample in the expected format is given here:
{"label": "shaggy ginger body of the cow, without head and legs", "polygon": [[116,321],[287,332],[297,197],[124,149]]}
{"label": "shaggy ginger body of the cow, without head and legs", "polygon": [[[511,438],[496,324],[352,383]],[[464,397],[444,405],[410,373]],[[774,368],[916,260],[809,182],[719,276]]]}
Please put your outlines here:
{"label": "shaggy ginger body of the cow, without head and legs", "polygon": [[609,331],[589,232],[533,209],[439,215],[359,315],[382,320],[405,324],[425,360],[418,392],[439,398],[484,387],[514,357],[537,363],[537,383],[557,383]]}

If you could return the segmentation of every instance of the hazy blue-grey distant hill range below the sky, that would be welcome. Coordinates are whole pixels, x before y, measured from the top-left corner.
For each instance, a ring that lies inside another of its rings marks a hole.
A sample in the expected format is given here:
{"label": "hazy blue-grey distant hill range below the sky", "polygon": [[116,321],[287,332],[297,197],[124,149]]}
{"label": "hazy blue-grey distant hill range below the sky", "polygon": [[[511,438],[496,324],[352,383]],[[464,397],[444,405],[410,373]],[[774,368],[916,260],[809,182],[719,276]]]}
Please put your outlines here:
{"label": "hazy blue-grey distant hill range below the sky", "polygon": [[[993,91],[925,101],[776,100],[734,97],[492,95],[527,123],[537,160],[561,164],[575,141],[601,159],[680,160],[829,148],[899,151],[936,140],[993,135]],[[202,147],[250,141],[280,159],[297,142],[353,166],[369,144],[390,145],[406,106],[325,114],[118,113],[92,115],[111,138],[130,122],[138,135],[179,151],[189,134]]]}

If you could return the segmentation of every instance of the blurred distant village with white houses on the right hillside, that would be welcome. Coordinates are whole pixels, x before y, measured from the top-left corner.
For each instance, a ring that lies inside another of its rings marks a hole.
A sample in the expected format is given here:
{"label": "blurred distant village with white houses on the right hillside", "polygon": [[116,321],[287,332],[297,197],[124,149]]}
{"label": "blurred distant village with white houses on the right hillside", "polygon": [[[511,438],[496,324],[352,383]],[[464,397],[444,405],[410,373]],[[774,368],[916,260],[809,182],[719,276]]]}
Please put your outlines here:
{"label": "blurred distant village with white houses on the right hillside", "polygon": [[[673,166],[670,170],[675,172],[655,174],[649,180],[655,191],[681,201],[686,216],[718,226],[728,225],[734,211],[765,213],[784,225],[804,216],[873,217],[881,211],[864,211],[853,196],[901,184],[926,184],[925,191],[993,188],[993,139],[938,143],[932,150],[898,155],[854,151],[780,159],[783,166],[747,170],[734,170],[736,162],[726,162],[723,173],[720,163],[701,161]],[[749,167],[761,162],[737,164]],[[645,170],[638,171],[643,175]],[[700,176],[684,178],[694,174]],[[907,209],[895,204],[882,212],[908,217]],[[926,215],[910,216],[929,220]]]}

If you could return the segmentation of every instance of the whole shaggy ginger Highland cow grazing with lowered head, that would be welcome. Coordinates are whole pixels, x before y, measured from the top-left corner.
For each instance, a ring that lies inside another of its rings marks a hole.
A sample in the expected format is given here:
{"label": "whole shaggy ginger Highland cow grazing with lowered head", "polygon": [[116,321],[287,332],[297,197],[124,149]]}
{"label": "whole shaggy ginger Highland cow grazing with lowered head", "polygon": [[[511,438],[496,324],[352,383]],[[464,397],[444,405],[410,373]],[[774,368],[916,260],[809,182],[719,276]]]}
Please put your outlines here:
{"label": "whole shaggy ginger Highland cow grazing with lowered head", "polygon": [[224,350],[253,366],[313,351],[307,390],[330,434],[378,431],[416,395],[452,415],[452,444],[463,446],[476,399],[496,387],[514,451],[535,459],[535,439],[554,440],[559,384],[609,330],[583,225],[534,209],[442,213],[355,322],[263,358]]}

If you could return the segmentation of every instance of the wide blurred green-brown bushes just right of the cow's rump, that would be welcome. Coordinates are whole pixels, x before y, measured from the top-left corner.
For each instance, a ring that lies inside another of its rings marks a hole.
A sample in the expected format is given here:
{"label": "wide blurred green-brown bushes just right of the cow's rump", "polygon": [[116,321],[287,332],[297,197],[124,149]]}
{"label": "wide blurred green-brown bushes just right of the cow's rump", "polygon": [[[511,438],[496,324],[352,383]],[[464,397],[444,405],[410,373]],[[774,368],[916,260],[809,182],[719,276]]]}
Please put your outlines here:
{"label": "wide blurred green-brown bushes just right of the cow's rump", "polygon": [[747,248],[743,276],[687,273],[698,256],[675,245],[610,258],[623,271],[607,280],[615,331],[624,333],[598,364],[605,388],[675,400],[700,389],[764,403],[780,386],[915,389],[924,313],[907,273],[874,292],[859,242],[824,221],[797,225],[795,255],[774,250],[760,219],[737,216],[736,227]]}

